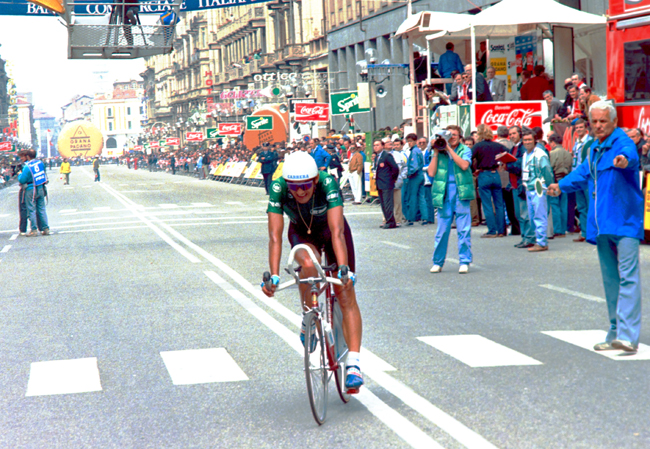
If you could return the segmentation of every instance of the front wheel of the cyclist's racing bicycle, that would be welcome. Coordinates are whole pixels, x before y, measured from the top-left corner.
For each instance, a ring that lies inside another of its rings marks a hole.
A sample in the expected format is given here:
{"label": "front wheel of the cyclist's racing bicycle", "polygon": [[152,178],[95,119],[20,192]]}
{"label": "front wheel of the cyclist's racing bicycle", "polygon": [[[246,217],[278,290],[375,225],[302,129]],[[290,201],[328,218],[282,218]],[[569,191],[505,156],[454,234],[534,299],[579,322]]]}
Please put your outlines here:
{"label": "front wheel of the cyclist's racing bicycle", "polygon": [[[307,312],[303,318],[303,325],[307,395],[314,419],[320,425],[325,422],[327,414],[327,383],[329,382],[325,339],[316,312]],[[315,348],[313,352],[310,350],[312,347]]]}

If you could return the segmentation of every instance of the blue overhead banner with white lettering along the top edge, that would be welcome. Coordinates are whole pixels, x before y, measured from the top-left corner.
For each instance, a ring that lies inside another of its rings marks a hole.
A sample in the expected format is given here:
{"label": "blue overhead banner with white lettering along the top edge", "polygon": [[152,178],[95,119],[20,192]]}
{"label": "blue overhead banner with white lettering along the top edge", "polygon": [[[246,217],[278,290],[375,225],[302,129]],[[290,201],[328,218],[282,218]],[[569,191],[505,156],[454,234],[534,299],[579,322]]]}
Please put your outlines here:
{"label": "blue overhead banner with white lettering along the top edge", "polygon": [[[234,6],[253,5],[270,0],[184,0],[181,11],[204,11],[207,9],[228,8]],[[140,14],[161,14],[171,9],[173,0],[140,0]],[[112,0],[85,0],[75,4],[74,13],[77,15],[103,16],[110,15],[113,8]],[[43,6],[26,0],[3,0],[0,7],[3,16],[56,16]]]}

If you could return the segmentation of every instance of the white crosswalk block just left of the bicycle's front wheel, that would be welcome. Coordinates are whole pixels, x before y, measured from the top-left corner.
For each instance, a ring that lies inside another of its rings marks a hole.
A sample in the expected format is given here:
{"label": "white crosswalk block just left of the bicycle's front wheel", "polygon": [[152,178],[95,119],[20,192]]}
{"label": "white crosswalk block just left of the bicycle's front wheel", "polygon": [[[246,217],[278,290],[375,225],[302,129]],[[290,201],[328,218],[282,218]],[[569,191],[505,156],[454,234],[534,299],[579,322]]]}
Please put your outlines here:
{"label": "white crosswalk block just left of the bicycle's front wheel", "polygon": [[174,385],[248,380],[225,348],[164,351],[160,355]]}

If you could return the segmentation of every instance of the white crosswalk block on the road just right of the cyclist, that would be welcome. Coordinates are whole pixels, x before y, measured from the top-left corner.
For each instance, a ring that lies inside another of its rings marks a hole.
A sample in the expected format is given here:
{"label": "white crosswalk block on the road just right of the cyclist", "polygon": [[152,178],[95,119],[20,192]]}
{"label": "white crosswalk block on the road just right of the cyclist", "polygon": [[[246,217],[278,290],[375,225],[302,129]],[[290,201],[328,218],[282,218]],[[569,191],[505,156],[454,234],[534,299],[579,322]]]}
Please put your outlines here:
{"label": "white crosswalk block on the road just right of the cyclist", "polygon": [[542,362],[481,335],[418,337],[418,340],[460,360],[472,368],[542,365]]}

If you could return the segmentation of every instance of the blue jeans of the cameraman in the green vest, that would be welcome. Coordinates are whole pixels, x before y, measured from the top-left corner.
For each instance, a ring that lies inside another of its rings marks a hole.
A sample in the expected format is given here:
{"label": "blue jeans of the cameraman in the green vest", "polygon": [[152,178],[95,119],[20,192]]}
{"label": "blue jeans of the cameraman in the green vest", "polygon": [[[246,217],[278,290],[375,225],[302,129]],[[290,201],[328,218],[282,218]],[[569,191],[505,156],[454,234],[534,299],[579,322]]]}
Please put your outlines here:
{"label": "blue jeans of the cameraman in the green vest", "polygon": [[433,250],[433,264],[443,266],[447,257],[447,245],[451,224],[456,216],[456,231],[458,233],[458,259],[461,264],[472,262],[472,213],[469,201],[458,199],[455,183],[447,182],[445,202],[438,209],[438,229],[436,229],[436,246]]}

